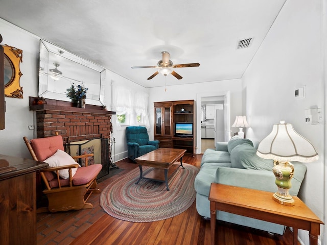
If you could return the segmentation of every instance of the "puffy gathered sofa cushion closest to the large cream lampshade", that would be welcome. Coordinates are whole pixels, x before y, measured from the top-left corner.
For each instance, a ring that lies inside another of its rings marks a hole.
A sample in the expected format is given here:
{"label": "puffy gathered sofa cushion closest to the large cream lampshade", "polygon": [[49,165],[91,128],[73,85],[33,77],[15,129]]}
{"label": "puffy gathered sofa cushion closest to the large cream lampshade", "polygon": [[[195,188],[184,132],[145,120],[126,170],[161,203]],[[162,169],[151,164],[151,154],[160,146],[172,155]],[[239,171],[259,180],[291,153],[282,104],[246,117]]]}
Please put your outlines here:
{"label": "puffy gathered sofa cushion closest to the large cream lampshade", "polygon": [[230,154],[231,166],[235,168],[257,169],[271,171],[272,159],[263,159],[256,155],[256,150],[248,143],[235,146]]}

